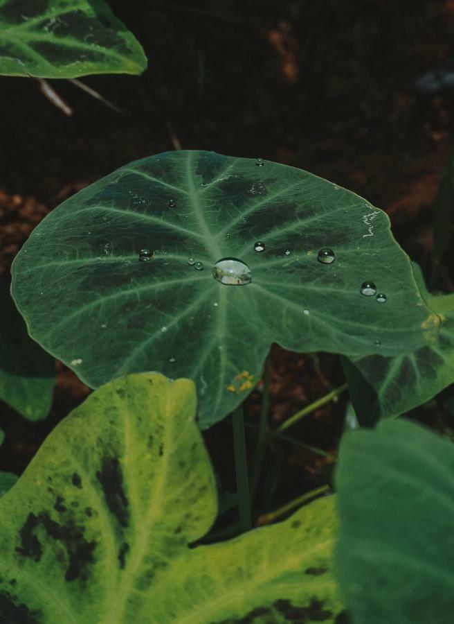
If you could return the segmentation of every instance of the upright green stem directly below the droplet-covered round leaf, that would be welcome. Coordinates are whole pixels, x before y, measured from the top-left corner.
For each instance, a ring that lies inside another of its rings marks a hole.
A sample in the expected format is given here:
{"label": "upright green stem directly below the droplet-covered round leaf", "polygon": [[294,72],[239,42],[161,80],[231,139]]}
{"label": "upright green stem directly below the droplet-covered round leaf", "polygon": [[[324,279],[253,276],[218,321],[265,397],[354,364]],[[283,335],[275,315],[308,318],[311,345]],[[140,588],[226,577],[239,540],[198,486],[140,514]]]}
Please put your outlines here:
{"label": "upright green stem directly below the droplet-covered round leaf", "polygon": [[237,479],[239,530],[243,533],[252,527],[251,498],[249,496],[248,460],[246,437],[244,436],[243,406],[232,413],[233,451],[235,454],[235,476]]}

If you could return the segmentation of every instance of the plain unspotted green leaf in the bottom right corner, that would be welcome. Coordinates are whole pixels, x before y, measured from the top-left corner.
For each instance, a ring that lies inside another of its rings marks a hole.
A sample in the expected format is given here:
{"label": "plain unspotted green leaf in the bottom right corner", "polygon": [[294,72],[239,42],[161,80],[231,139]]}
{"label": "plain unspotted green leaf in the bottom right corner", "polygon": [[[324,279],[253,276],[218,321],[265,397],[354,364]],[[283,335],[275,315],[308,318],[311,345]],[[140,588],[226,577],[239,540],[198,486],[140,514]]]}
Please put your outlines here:
{"label": "plain unspotted green leaf in the bottom right corner", "polygon": [[345,434],[335,571],[354,624],[451,624],[454,445],[405,420]]}

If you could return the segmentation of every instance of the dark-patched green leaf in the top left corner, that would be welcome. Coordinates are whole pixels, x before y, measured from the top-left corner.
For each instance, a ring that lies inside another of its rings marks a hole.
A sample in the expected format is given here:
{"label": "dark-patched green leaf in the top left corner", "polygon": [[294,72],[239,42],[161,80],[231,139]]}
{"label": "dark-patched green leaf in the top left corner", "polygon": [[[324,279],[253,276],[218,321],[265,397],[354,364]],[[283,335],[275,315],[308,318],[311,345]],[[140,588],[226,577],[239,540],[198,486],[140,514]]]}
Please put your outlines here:
{"label": "dark-patched green leaf in the top left corner", "polygon": [[0,74],[142,73],[142,47],[103,0],[0,0]]}

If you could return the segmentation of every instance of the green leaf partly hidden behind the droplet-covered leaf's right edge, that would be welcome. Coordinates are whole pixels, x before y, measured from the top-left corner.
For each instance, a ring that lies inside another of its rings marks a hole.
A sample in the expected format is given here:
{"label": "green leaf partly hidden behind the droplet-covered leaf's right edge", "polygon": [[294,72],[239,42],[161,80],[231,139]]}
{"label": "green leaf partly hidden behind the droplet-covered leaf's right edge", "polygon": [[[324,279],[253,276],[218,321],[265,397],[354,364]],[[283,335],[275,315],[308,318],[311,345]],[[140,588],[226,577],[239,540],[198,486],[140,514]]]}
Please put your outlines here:
{"label": "green leaf partly hidden behind the droplet-covered leaf's right edge", "polygon": [[430,295],[421,269],[416,263],[412,267],[424,301],[439,316],[439,333],[424,347],[399,356],[341,358],[363,426],[399,416],[454,383],[454,294]]}

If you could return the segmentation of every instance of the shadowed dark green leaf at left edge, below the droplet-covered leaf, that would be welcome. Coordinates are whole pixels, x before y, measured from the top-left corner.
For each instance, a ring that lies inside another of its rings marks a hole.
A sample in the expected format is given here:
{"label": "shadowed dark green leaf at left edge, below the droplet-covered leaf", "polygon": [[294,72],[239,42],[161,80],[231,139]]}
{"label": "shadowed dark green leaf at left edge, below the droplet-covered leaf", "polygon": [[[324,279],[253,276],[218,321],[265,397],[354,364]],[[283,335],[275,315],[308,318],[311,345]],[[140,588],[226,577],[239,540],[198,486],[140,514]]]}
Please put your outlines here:
{"label": "shadowed dark green leaf at left edge, below the droplet-covered leaf", "polygon": [[0,279],[0,400],[28,420],[46,418],[55,383],[54,360],[28,336],[6,279]]}

